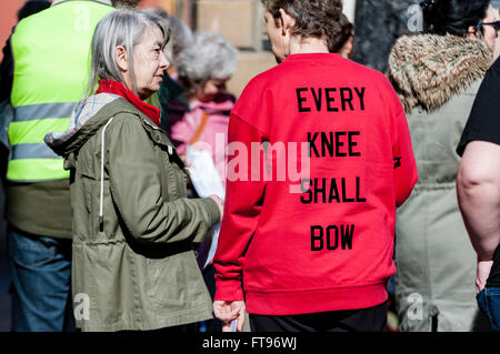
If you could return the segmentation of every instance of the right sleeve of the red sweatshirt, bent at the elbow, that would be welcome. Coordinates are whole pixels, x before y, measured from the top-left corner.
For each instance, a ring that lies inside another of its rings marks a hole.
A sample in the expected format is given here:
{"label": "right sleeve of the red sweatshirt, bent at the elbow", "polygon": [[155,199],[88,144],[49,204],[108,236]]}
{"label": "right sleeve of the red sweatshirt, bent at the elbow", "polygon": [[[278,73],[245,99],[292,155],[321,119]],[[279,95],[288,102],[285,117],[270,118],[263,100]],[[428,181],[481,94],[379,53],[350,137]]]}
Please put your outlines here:
{"label": "right sleeve of the red sweatshirt, bent at the elbow", "polygon": [[394,159],[396,205],[400,206],[410,196],[418,180],[407,115],[402,108],[401,113],[396,118],[394,129],[396,140],[392,145],[392,156]]}

